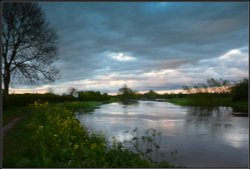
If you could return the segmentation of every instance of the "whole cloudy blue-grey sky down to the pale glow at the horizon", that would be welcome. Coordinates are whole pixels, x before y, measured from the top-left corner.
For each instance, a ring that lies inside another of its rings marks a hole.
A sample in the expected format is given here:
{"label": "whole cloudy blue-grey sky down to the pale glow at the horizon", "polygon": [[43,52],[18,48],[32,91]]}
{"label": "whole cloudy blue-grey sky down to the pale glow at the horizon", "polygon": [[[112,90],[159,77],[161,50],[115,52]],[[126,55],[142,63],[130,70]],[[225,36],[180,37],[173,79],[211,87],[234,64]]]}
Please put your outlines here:
{"label": "whole cloudy blue-grey sky down to the pale glow at the horizon", "polygon": [[62,94],[69,87],[164,93],[209,78],[249,76],[247,2],[40,2],[59,37],[51,84],[11,92]]}

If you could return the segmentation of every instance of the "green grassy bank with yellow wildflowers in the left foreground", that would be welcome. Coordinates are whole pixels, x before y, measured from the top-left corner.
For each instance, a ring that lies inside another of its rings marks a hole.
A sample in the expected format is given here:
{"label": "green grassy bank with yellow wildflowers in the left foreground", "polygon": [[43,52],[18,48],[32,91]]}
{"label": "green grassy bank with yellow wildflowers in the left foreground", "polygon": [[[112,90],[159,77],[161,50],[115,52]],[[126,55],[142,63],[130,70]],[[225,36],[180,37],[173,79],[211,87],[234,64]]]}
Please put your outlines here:
{"label": "green grassy bank with yellow wildflowers in the left foreground", "polygon": [[72,110],[98,104],[35,103],[31,114],[4,137],[3,167],[174,167],[142,158],[115,140],[110,144],[104,135],[90,133]]}

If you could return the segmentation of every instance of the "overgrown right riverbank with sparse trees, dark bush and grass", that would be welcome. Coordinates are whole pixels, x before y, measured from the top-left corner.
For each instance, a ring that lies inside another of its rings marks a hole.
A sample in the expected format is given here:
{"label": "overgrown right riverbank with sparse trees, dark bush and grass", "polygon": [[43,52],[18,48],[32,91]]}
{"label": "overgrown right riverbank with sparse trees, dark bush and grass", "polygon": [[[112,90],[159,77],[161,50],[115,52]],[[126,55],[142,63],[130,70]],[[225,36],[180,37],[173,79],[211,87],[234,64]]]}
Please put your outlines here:
{"label": "overgrown right riverbank with sparse trees, dark bush and grass", "polygon": [[230,106],[234,111],[248,112],[248,79],[236,84],[222,79],[208,79],[207,85],[183,88],[189,94],[182,98],[172,97],[168,101],[184,106]]}

